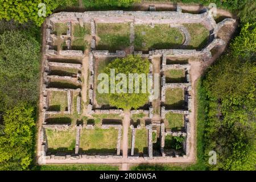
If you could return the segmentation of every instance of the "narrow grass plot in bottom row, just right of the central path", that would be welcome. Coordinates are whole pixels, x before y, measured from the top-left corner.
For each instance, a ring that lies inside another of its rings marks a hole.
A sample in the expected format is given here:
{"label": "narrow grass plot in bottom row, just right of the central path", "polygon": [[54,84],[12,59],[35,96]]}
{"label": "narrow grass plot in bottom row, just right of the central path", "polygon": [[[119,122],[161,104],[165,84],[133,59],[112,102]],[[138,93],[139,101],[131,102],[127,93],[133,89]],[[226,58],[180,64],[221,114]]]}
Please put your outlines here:
{"label": "narrow grass plot in bottom row, just right of the central path", "polygon": [[136,130],[134,153],[147,153],[147,129],[144,127]]}

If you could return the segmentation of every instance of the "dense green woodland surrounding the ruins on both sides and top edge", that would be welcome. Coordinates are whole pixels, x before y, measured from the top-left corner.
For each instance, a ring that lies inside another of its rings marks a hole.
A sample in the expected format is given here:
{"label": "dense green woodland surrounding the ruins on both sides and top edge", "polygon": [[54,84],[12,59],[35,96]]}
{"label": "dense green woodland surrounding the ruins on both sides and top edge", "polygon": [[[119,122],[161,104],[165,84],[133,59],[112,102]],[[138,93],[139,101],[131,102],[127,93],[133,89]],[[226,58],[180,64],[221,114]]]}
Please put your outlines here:
{"label": "dense green woodland surrounding the ruins on both sides and top edge", "polygon": [[[0,170],[34,169],[39,98],[40,26],[38,3],[55,9],[78,6],[75,0],[0,0]],[[85,9],[127,9],[139,0],[83,0]],[[253,0],[181,0],[237,14],[236,38],[198,85],[197,164],[133,169],[255,170],[256,3]],[[217,152],[217,165],[208,152]]]}

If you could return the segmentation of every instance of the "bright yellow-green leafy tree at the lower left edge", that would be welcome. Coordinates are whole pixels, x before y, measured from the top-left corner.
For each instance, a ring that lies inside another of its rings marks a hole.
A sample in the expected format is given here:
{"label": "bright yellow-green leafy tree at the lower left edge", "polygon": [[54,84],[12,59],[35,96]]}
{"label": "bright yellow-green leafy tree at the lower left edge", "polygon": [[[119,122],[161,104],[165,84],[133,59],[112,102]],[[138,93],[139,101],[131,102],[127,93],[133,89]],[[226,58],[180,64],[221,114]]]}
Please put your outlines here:
{"label": "bright yellow-green leafy tree at the lower left edge", "polygon": [[5,111],[0,135],[0,170],[27,169],[32,162],[34,107],[19,103]]}

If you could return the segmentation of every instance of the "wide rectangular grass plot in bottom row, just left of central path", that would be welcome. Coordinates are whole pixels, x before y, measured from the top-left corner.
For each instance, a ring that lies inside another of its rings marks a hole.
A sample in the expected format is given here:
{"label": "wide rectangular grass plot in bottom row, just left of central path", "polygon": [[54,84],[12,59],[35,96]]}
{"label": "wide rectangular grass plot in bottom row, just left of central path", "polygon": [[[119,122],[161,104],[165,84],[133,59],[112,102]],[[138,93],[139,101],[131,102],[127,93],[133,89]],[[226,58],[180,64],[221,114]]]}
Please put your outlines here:
{"label": "wide rectangular grass plot in bottom row, just left of central path", "polygon": [[106,154],[116,152],[118,130],[114,128],[82,129],[80,148],[86,154]]}

